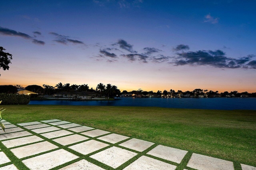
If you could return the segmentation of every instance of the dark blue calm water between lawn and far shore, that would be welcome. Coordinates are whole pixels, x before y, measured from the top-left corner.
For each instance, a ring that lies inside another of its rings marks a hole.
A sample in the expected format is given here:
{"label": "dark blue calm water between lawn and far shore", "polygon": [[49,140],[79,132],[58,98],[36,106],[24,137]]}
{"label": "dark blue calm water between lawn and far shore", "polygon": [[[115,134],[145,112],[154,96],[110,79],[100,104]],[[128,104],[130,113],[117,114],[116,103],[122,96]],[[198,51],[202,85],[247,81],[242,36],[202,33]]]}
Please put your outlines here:
{"label": "dark blue calm water between lawn and far shore", "polygon": [[29,105],[153,106],[182,109],[256,110],[256,98],[119,98],[115,101],[30,101]]}

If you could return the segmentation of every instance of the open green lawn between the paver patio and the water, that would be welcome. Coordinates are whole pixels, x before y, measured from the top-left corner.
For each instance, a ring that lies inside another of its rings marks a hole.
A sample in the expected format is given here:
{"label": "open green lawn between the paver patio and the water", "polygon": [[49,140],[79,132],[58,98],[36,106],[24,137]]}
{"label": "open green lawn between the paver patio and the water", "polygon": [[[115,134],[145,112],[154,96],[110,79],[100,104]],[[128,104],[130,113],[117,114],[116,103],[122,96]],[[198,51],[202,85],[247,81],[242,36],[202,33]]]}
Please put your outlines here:
{"label": "open green lawn between the paver patio and the water", "polygon": [[6,105],[11,123],[60,119],[189,152],[256,166],[256,111]]}

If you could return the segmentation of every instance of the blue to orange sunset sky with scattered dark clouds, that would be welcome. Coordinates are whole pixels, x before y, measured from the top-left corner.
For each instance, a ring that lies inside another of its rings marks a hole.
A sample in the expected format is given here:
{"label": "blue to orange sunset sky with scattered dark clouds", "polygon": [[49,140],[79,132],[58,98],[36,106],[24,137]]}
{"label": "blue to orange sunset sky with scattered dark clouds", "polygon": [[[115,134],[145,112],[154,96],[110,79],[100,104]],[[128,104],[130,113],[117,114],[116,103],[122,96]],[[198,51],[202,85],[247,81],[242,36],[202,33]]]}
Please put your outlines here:
{"label": "blue to orange sunset sky with scattered dark clouds", "polygon": [[256,0],[0,0],[0,85],[256,92]]}

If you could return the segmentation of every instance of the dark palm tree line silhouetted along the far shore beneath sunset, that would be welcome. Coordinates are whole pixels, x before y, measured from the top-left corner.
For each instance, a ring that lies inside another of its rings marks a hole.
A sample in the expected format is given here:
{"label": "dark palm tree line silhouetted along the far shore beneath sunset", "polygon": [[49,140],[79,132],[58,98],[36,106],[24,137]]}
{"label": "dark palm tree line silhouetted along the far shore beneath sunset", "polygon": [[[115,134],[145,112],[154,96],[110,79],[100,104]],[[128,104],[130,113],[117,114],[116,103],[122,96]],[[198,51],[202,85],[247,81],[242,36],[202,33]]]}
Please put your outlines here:
{"label": "dark palm tree line silhouetted along the far shore beneath sunset", "polygon": [[193,91],[175,91],[170,89],[169,91],[164,90],[157,92],[154,91],[143,91],[142,89],[133,90],[133,91],[121,91],[118,89],[116,85],[99,83],[96,86],[96,89],[90,88],[88,84],[83,85],[70,85],[70,83],[62,84],[58,83],[54,87],[51,85],[44,84],[43,87],[40,85],[28,85],[23,88],[20,85],[0,85],[0,93],[17,93],[18,89],[26,89],[28,91],[32,91],[38,93],[40,95],[53,95],[54,93],[72,93],[72,92],[94,92],[97,93],[98,96],[105,97],[118,97],[122,94],[134,94],[137,97],[148,97],[150,95],[158,96],[158,97],[256,97],[256,93],[248,93],[244,91],[239,93],[238,91],[224,91],[219,93],[218,91],[212,90],[203,90],[203,89],[194,89]]}

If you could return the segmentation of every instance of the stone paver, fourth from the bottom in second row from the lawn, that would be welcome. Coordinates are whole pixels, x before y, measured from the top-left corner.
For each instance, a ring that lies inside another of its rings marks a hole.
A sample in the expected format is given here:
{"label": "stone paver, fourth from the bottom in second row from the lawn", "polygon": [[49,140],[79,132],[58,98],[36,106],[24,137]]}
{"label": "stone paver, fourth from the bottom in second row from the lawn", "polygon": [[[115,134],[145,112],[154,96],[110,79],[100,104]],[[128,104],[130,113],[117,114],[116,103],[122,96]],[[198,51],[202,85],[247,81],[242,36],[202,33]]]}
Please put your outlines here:
{"label": "stone paver, fourth from the bottom in second row from the lawn", "polygon": [[89,138],[87,138],[85,136],[81,136],[79,134],[72,134],[70,136],[65,136],[65,137],[62,137],[62,138],[53,139],[53,141],[65,146],[65,145],[68,145],[68,144],[81,142],[81,141],[87,140],[87,139],[89,139]]}

